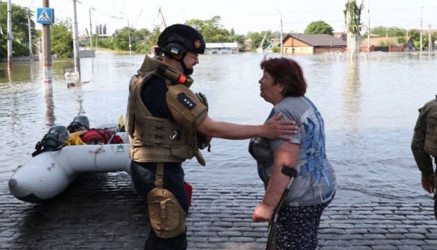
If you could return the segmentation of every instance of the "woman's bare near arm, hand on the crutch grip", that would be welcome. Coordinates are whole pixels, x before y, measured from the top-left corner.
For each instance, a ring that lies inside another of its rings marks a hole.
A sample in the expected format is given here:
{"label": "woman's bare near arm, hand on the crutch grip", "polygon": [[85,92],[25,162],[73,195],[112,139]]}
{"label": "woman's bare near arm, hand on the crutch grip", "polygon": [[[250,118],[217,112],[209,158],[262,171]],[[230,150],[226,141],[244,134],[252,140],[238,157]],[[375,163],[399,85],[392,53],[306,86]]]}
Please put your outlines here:
{"label": "woman's bare near arm, hand on the crutch grip", "polygon": [[262,203],[255,208],[253,222],[270,222],[282,193],[290,181],[290,177],[282,174],[282,167],[295,167],[299,156],[299,144],[284,142],[273,152],[274,162],[272,176],[268,182],[266,194]]}

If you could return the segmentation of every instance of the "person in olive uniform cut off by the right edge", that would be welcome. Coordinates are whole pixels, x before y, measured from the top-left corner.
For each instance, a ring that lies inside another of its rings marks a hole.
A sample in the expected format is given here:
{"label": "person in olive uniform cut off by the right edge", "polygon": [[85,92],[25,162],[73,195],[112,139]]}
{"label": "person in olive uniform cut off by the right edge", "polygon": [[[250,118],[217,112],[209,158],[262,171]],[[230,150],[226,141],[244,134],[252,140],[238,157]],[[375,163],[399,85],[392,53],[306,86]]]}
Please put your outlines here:
{"label": "person in olive uniform cut off by the right edge", "polygon": [[[429,194],[435,193],[437,178],[434,175],[432,158],[437,165],[437,95],[419,109],[419,117],[414,126],[411,151],[415,163],[422,172],[422,188]],[[437,199],[434,194],[434,216],[437,219]]]}

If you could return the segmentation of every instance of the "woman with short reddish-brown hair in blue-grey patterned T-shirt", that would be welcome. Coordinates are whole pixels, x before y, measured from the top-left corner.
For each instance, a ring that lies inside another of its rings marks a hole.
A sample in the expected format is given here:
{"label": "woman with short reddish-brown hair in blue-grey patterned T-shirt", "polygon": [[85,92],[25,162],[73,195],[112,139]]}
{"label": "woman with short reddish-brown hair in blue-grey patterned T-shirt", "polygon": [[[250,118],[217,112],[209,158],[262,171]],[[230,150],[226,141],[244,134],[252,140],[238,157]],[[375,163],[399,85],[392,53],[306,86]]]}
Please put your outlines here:
{"label": "woman with short reddish-brown hair in blue-grey patterned T-shirt", "polygon": [[323,210],[334,199],[336,176],[325,152],[325,124],[307,97],[302,68],[290,58],[264,58],[259,79],[261,97],[273,104],[269,118],[282,113],[298,125],[291,140],[253,138],[249,151],[257,160],[258,174],[266,194],[253,213],[254,222],[270,222],[289,176],[282,167],[297,170],[291,188],[273,228],[275,250],[316,249],[318,226]]}

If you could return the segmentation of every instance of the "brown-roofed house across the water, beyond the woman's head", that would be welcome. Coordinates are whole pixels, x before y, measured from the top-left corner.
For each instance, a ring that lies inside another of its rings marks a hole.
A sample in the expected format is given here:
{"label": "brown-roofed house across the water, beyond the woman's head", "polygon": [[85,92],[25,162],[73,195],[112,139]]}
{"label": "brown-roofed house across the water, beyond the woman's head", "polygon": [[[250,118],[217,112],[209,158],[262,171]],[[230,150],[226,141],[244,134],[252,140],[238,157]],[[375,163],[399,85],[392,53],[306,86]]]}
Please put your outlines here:
{"label": "brown-roofed house across the water, beyond the woman's head", "polygon": [[345,41],[328,34],[287,34],[282,40],[282,52],[293,55],[312,55],[329,51],[344,52],[347,47]]}

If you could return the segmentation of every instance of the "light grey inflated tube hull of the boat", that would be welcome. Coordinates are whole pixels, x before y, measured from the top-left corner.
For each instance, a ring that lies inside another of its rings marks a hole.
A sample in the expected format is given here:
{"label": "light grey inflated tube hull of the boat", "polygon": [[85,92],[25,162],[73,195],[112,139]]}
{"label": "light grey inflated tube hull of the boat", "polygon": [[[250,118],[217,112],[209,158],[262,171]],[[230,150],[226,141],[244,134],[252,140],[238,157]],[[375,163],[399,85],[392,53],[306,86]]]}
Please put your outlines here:
{"label": "light grey inflated tube hull of the boat", "polygon": [[84,172],[130,174],[129,147],[130,144],[71,145],[42,152],[15,169],[9,190],[22,201],[42,203],[63,192]]}

